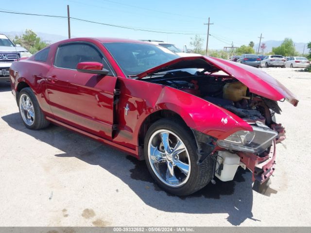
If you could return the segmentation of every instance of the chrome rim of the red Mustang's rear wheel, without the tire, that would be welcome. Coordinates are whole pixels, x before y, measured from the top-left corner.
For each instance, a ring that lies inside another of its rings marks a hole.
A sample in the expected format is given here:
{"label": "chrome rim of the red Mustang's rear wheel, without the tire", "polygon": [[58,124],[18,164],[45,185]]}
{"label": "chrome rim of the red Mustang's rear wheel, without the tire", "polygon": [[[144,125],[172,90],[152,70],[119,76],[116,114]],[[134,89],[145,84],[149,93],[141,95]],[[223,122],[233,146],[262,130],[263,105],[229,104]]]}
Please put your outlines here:
{"label": "chrome rim of the red Mustang's rear wheel, without the tire", "polygon": [[19,110],[24,122],[29,126],[33,125],[35,121],[34,105],[26,94],[19,97]]}

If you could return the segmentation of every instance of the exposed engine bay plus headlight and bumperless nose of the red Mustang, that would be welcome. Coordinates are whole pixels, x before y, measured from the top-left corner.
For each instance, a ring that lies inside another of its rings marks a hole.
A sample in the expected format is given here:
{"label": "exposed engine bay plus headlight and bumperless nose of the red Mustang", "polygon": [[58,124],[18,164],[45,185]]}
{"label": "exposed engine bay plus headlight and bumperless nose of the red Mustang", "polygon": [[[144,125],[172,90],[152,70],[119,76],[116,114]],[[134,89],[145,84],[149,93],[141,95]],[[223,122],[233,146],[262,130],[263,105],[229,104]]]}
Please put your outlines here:
{"label": "exposed engine bay plus headlight and bumperless nose of the red Mustang", "polygon": [[275,144],[285,139],[285,130],[281,124],[276,124],[274,116],[281,113],[276,101],[250,93],[247,86],[228,75],[191,75],[177,71],[154,77],[148,82],[200,97],[250,124],[254,132],[239,131],[217,141],[221,149],[214,153],[215,176],[221,181],[232,180],[237,168],[242,166],[253,172],[253,181],[262,184],[269,180],[275,169]]}

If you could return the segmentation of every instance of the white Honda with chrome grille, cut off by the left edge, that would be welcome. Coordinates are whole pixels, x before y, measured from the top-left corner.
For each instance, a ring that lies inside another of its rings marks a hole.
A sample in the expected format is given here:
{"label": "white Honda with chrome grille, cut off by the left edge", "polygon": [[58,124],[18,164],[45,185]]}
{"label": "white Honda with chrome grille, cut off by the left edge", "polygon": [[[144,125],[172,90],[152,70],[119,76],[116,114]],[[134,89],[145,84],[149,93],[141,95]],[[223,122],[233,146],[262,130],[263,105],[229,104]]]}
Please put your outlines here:
{"label": "white Honda with chrome grille, cut off by the left edge", "polygon": [[0,80],[9,80],[9,68],[14,60],[31,55],[25,48],[15,45],[6,35],[0,34]]}

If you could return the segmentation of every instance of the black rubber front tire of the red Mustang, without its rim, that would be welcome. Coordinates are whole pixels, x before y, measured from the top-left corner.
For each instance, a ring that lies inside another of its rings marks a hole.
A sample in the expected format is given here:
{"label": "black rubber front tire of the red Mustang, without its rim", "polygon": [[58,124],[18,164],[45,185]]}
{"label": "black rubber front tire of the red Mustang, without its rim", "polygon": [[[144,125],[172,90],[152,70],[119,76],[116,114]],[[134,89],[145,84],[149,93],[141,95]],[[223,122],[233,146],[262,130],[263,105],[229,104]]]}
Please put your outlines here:
{"label": "black rubber front tire of the red Mustang, without its rim", "polygon": [[[169,130],[182,140],[185,147],[189,152],[190,157],[190,175],[186,183],[179,187],[171,187],[163,183],[153,171],[150,161],[148,158],[148,143],[153,135],[158,130]],[[178,196],[190,195],[199,189],[205,187],[207,183],[213,178],[213,167],[215,166],[214,159],[211,156],[208,156],[204,162],[200,165],[197,164],[198,154],[197,154],[197,145],[193,133],[190,131],[183,122],[180,122],[172,118],[162,118],[153,123],[148,129],[145,141],[144,141],[144,156],[146,160],[147,167],[151,176],[154,178],[155,182],[165,191],[172,193]]]}

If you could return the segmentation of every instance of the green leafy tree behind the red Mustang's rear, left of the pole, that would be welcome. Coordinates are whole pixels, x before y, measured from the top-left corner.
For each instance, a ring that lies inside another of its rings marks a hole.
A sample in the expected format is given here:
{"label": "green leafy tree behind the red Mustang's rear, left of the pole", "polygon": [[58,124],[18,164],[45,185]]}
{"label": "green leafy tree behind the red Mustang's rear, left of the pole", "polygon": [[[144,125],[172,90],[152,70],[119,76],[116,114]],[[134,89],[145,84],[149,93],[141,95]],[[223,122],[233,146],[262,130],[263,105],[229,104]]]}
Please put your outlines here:
{"label": "green leafy tree behind the red Mustang's rear, left of the pole", "polygon": [[26,48],[31,53],[35,53],[48,46],[47,43],[41,41],[40,37],[32,30],[26,29],[25,33],[20,36],[15,36],[14,43]]}

